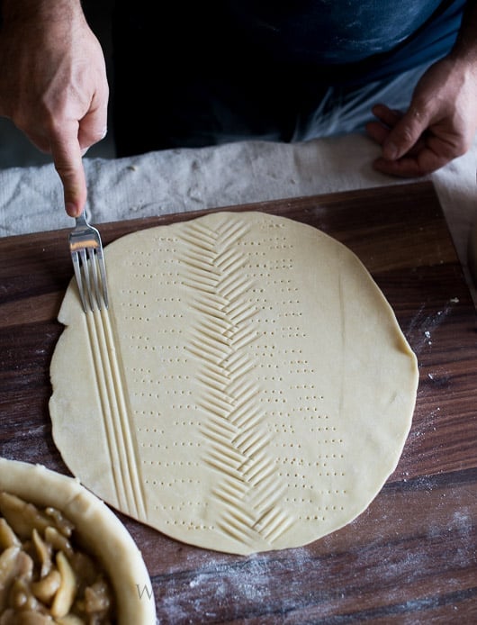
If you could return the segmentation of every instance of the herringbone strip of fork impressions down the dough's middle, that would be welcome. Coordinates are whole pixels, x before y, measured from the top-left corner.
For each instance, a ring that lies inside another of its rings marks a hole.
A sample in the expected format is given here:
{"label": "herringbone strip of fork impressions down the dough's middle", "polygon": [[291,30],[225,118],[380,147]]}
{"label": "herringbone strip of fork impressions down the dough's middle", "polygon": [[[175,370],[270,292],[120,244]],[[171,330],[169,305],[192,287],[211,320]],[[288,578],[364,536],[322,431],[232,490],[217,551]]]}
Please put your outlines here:
{"label": "herringbone strip of fork impressions down the dough's middle", "polygon": [[246,234],[247,226],[231,217],[214,230],[191,222],[182,237],[183,284],[193,289],[197,312],[189,352],[202,361],[203,460],[219,476],[211,494],[218,526],[242,543],[259,535],[272,545],[294,520],[281,505],[285,485],[268,456],[266,412],[257,402],[261,389],[247,350],[258,332],[257,310],[247,297],[252,282],[242,270],[247,255],[238,244]]}

